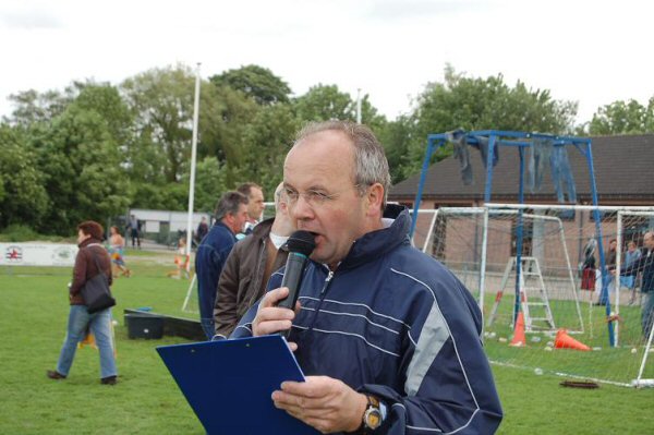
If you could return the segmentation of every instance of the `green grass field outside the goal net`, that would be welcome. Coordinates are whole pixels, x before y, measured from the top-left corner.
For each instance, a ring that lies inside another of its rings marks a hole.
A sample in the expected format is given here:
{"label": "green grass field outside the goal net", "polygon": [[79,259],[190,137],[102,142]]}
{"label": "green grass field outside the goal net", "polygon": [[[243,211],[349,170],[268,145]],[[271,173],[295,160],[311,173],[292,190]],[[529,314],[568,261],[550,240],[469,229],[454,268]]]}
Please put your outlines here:
{"label": "green grass field outside the goal net", "polygon": [[[70,270],[0,268],[0,434],[204,434],[155,351],[184,340],[130,340],[122,318],[123,309],[138,306],[192,317],[180,311],[189,281],[166,278],[172,253],[131,254],[133,277],[113,286],[120,372],[114,387],[99,384],[97,351],[88,347],[77,351],[68,379],[45,376],[65,335]],[[500,434],[654,433],[654,389],[568,389],[548,374],[496,365],[493,371],[506,414]]]}

